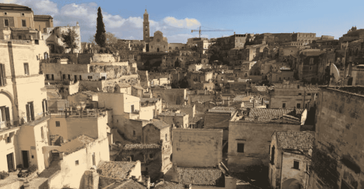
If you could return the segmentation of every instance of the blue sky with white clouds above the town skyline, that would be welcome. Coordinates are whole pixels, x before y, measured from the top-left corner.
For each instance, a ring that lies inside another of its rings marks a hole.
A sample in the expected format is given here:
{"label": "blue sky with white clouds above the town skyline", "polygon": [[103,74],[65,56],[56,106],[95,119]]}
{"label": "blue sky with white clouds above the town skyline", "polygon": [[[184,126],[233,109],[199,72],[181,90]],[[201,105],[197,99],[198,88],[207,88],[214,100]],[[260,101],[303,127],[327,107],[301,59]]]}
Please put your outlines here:
{"label": "blue sky with white clouds above the town skyline", "polygon": [[310,32],[339,39],[352,26],[364,28],[361,1],[317,0],[0,0],[32,8],[35,15],[51,15],[54,26],[75,26],[79,22],[81,41],[96,33],[97,9],[101,7],[105,29],[120,39],[143,39],[143,14],[149,13],[150,34],[161,31],[169,43],[186,43],[198,37],[218,38],[236,34]]}

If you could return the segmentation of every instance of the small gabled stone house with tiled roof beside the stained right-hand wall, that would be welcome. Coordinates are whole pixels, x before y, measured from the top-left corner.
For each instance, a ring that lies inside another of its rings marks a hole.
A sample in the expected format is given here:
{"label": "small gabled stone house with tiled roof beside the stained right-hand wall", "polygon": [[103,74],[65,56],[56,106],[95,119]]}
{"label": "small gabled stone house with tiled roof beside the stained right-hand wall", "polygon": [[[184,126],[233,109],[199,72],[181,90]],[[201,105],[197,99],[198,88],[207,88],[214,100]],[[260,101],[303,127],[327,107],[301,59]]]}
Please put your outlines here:
{"label": "small gabled stone house with tiled roof beside the stained right-hand wall", "polygon": [[272,188],[307,188],[313,139],[313,131],[273,133],[268,177]]}

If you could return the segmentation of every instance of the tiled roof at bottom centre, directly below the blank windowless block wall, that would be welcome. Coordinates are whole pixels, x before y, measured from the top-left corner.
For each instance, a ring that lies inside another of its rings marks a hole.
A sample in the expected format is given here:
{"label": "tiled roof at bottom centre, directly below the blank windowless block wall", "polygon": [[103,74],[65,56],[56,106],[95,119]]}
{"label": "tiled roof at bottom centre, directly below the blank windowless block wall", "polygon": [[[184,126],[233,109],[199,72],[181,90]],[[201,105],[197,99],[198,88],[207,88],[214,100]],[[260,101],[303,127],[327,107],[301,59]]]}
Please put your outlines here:
{"label": "tiled roof at bottom centre, directly below the blank windowless block wall", "polygon": [[222,177],[220,169],[177,168],[182,184],[215,186]]}

